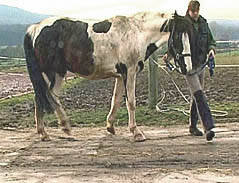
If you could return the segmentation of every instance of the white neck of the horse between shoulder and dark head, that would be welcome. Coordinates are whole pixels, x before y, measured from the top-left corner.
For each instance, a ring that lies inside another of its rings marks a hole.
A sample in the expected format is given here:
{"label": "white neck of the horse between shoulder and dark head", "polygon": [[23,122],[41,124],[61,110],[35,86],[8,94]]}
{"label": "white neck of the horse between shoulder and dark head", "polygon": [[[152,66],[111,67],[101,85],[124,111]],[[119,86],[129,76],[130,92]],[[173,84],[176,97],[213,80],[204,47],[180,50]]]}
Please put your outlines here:
{"label": "white neck of the horse between shoulder and dark head", "polygon": [[167,20],[166,18],[155,18],[151,21],[145,21],[143,23],[144,27],[144,36],[146,38],[147,43],[156,43],[157,45],[161,45],[164,42],[167,42],[169,33],[168,32],[160,32],[160,28],[163,23]]}

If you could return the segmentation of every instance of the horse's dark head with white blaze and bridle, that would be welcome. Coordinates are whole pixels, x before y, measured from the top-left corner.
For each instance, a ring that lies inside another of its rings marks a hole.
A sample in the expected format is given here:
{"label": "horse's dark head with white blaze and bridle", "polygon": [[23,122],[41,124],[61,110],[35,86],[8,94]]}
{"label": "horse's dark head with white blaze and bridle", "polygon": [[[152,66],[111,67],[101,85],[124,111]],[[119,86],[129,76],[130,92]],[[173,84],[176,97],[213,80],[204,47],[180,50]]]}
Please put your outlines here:
{"label": "horse's dark head with white blaze and bridle", "polygon": [[193,43],[193,25],[184,16],[174,13],[161,27],[161,32],[170,32],[168,54],[174,58],[176,66],[182,74],[192,70],[191,49]]}

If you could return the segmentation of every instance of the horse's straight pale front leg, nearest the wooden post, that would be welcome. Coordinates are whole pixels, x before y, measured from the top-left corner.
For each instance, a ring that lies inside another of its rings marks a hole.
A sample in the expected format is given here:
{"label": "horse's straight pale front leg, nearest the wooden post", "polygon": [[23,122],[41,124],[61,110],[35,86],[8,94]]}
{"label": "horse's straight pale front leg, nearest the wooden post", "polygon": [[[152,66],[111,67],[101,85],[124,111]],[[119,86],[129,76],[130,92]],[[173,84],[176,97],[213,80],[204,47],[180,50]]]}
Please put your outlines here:
{"label": "horse's straight pale front leg, nearest the wooden post", "polygon": [[129,114],[129,129],[134,135],[134,141],[142,142],[146,140],[144,133],[138,129],[135,120],[135,109],[136,109],[136,100],[135,100],[135,82],[136,82],[136,69],[129,68],[127,75],[127,99],[126,105]]}

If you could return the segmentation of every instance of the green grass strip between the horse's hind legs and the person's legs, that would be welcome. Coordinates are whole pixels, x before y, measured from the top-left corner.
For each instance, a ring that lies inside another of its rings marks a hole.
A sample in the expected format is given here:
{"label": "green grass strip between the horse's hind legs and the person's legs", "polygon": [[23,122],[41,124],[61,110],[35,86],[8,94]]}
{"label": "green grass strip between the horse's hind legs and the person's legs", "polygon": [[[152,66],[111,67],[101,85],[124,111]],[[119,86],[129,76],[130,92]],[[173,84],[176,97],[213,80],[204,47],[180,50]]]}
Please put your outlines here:
{"label": "green grass strip between the horse's hind legs and the person's legs", "polygon": [[[73,126],[105,126],[108,109],[86,110],[67,110]],[[179,112],[159,113],[151,110],[147,106],[136,108],[136,122],[139,125],[158,125],[168,126],[173,124],[186,124],[187,116]],[[116,126],[128,125],[128,111],[126,107],[121,107],[116,115],[114,122]]]}

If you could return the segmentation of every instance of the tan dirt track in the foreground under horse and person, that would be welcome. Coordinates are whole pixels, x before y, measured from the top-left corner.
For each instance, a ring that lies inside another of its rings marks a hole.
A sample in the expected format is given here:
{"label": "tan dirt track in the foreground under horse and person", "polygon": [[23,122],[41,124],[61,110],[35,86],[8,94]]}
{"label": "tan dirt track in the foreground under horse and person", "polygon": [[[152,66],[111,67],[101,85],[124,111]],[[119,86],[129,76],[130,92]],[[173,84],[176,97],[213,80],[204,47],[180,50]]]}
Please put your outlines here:
{"label": "tan dirt track in the foreground under horse and person", "polygon": [[186,126],[140,127],[135,143],[125,127],[74,128],[71,137],[49,128],[42,142],[34,129],[0,130],[0,182],[4,183],[236,183],[239,125],[220,124],[213,142]]}

